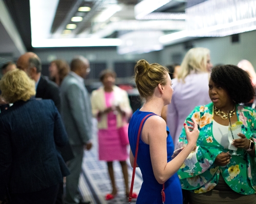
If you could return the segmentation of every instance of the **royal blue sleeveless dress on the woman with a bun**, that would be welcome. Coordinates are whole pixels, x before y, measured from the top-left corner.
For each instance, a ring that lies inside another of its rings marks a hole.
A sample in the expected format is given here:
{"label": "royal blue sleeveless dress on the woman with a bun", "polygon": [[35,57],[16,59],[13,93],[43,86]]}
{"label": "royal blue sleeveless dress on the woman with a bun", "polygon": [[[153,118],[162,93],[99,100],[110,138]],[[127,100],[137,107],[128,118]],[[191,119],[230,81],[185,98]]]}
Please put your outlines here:
{"label": "royal blue sleeveless dress on the woman with a bun", "polygon": [[[136,150],[136,142],[137,142],[137,135],[139,131],[139,126],[142,119],[150,114],[151,112],[142,112],[137,110],[129,123],[129,141],[131,150],[133,155],[135,155]],[[150,116],[148,116],[150,117]],[[148,118],[147,117],[147,118]],[[146,119],[147,119],[146,118]],[[144,120],[144,123],[146,121]],[[144,125],[143,123],[143,125]],[[142,126],[143,129],[143,126]],[[172,155],[174,152],[174,144],[172,137],[170,137],[169,129],[166,126],[167,131],[167,162],[172,160]],[[151,164],[150,158],[150,146],[144,143],[141,138],[139,141],[139,150],[138,150],[138,157],[137,157],[137,164],[141,170],[143,183],[141,185],[141,189],[137,198],[137,204],[145,203],[145,204],[160,204],[162,203],[162,195],[161,190],[163,185],[159,184],[155,179],[153,168]],[[182,204],[182,192],[181,192],[181,184],[179,181],[178,174],[175,173],[172,177],[170,177],[164,184],[164,192],[165,192],[165,204]]]}

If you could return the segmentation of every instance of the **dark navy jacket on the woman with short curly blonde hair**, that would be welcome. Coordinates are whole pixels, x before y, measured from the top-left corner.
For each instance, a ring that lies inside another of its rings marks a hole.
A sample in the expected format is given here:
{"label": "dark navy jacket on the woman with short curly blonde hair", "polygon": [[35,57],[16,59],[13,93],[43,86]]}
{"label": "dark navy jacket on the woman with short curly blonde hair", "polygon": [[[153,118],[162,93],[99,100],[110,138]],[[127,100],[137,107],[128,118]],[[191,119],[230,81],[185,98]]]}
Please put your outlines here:
{"label": "dark navy jacket on the woman with short curly blonde hair", "polygon": [[68,141],[52,100],[17,101],[0,114],[0,200],[39,191],[69,174],[56,146]]}

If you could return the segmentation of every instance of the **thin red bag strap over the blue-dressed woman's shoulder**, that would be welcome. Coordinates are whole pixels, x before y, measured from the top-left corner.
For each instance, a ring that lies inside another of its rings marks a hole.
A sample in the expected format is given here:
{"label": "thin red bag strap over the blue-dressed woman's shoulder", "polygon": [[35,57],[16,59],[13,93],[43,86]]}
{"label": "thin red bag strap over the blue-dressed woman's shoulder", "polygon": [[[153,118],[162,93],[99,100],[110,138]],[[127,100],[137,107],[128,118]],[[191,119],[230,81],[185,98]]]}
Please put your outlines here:
{"label": "thin red bag strap over the blue-dressed woman's shoulder", "polygon": [[[138,131],[138,135],[137,135],[137,142],[136,142],[136,150],[135,150],[135,157],[134,157],[134,164],[133,164],[133,176],[132,176],[132,182],[131,182],[131,189],[130,189],[130,195],[129,195],[129,200],[128,200],[129,203],[132,202],[133,185],[134,185],[134,177],[135,177],[135,169],[136,169],[136,164],[137,164],[137,156],[138,156],[138,149],[139,149],[139,141],[140,141],[141,129],[142,129],[142,125],[143,125],[143,122],[145,121],[145,119],[148,116],[151,116],[151,115],[156,115],[156,114],[151,113],[151,114],[146,115],[141,120],[141,123],[140,123],[139,131]],[[165,202],[164,184],[163,184],[163,189],[162,189],[161,194],[162,194],[162,201],[163,201],[163,204],[164,204],[164,202]]]}

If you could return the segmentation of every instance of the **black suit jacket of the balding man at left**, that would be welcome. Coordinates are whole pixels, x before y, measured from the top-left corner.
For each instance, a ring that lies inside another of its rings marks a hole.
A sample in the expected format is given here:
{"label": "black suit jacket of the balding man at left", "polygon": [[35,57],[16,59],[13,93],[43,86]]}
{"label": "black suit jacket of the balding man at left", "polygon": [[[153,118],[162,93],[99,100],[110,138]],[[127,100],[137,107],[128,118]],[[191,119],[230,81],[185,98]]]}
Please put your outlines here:
{"label": "black suit jacket of the balding man at left", "polygon": [[41,75],[38,82],[35,97],[42,99],[52,99],[58,111],[60,112],[59,87],[56,83],[48,80],[43,75]]}

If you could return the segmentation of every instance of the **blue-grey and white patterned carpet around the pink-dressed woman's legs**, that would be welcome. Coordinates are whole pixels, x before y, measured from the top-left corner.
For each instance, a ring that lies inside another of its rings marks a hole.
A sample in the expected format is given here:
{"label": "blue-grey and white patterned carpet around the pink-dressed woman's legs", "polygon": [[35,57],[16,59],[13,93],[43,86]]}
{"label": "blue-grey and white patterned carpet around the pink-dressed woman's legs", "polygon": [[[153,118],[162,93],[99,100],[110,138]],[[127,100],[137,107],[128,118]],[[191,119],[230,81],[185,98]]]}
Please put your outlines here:
{"label": "blue-grey and white patterned carpet around the pink-dressed woman's legs", "polygon": [[[95,123],[94,123],[95,124]],[[94,125],[95,126],[95,125]],[[97,130],[94,131],[93,148],[86,151],[83,158],[82,173],[80,174],[79,190],[84,200],[90,200],[95,204],[121,204],[128,203],[124,193],[124,182],[121,166],[118,161],[113,162],[115,171],[115,180],[118,188],[117,196],[113,200],[106,201],[105,195],[112,191],[111,181],[109,179],[108,168],[106,162],[98,160]],[[127,147],[127,154],[130,147]],[[130,161],[127,160],[129,181],[132,180],[132,167]],[[134,192],[139,193],[142,183],[140,170],[136,169]],[[132,203],[135,203],[133,199]]]}

